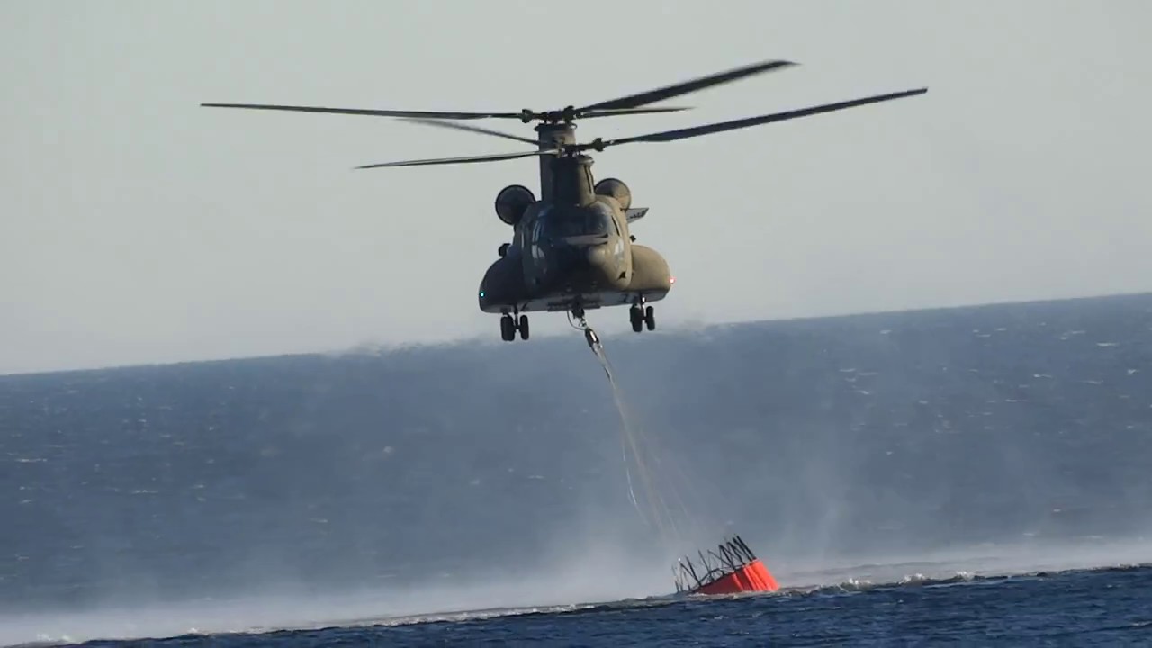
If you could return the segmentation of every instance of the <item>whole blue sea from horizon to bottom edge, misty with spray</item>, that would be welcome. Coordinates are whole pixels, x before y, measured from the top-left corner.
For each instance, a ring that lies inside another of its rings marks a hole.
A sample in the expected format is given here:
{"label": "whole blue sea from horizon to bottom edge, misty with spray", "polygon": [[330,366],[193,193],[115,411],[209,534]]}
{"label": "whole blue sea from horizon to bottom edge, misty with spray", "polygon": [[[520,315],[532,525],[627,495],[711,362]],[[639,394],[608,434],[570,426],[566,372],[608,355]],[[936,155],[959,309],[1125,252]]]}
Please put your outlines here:
{"label": "whole blue sea from horizon to bottom edge, misty with spray", "polygon": [[0,646],[1152,645],[1152,295],[605,346],[0,376]]}

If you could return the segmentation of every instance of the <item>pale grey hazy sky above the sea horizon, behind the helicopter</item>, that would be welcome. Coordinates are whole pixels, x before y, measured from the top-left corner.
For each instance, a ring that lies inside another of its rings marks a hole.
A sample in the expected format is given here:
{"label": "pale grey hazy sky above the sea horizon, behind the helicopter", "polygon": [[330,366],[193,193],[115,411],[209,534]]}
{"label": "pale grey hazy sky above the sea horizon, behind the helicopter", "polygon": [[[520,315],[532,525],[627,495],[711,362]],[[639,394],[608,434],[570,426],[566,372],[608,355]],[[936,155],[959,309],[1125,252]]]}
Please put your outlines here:
{"label": "pale grey hazy sky above the sea horizon, behind the helicopter", "polygon": [[510,232],[492,201],[535,189],[536,160],[351,167],[522,145],[202,101],[546,110],[773,58],[801,66],[577,133],[929,93],[597,155],[676,276],[660,325],[1152,289],[1144,0],[9,0],[0,18],[0,372],[499,339],[476,303]]}

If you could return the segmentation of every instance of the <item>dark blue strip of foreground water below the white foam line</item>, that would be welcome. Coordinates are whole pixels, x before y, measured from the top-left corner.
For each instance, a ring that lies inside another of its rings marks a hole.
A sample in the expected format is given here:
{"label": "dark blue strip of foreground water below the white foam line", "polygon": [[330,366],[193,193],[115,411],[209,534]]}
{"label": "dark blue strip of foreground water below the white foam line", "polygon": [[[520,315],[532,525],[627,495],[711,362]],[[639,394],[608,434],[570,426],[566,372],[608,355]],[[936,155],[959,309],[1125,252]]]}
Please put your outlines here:
{"label": "dark blue strip of foreground water below the white foam line", "polygon": [[[1116,646],[1152,643],[1152,568],[1031,574],[844,592],[516,610],[153,646]],[[1059,609],[1053,609],[1056,605]],[[575,609],[574,609],[575,608]],[[120,646],[122,642],[92,642]]]}

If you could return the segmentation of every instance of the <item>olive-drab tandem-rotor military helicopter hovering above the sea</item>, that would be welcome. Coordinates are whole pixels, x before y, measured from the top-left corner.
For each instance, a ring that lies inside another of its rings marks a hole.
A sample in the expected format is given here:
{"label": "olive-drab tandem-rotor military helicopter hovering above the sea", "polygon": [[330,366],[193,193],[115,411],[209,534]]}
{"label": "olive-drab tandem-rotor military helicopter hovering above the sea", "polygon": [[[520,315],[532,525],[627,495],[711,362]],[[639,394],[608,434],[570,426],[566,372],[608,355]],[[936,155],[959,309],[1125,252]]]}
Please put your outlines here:
{"label": "olive-drab tandem-rotor military helicopter hovering above the sea", "polygon": [[[796,63],[771,60],[727,71],[639,92],[627,97],[568,106],[558,111],[520,112],[433,112],[329,108],[266,104],[200,104],[206,107],[253,108],[400,118],[420,125],[454,128],[535,145],[535,150],[473,157],[440,158],[364,165],[356,168],[470,164],[539,158],[540,197],[523,184],[510,184],[497,194],[495,213],[513,228],[511,241],[500,246],[479,285],[479,308],[500,314],[500,336],[505,341],[529,339],[529,312],[567,311],[588,330],[585,309],[629,306],[632,331],[655,329],[651,303],[667,296],[675,281],[668,263],[654,249],[637,244],[631,225],[649,209],[632,206],[631,189],[623,181],[593,179],[588,151],[639,142],[674,142],[888,101],[927,92],[926,88],[864,97],[835,104],[737,119],[690,128],[651,133],[635,137],[596,140],[577,143],[577,119],[628,114],[677,112],[683,107],[646,107],[650,104],[730,83],[751,75],[780,70]],[[465,123],[463,120],[509,119],[539,122],[536,138],[522,137]],[[591,341],[590,341],[591,344]]]}

